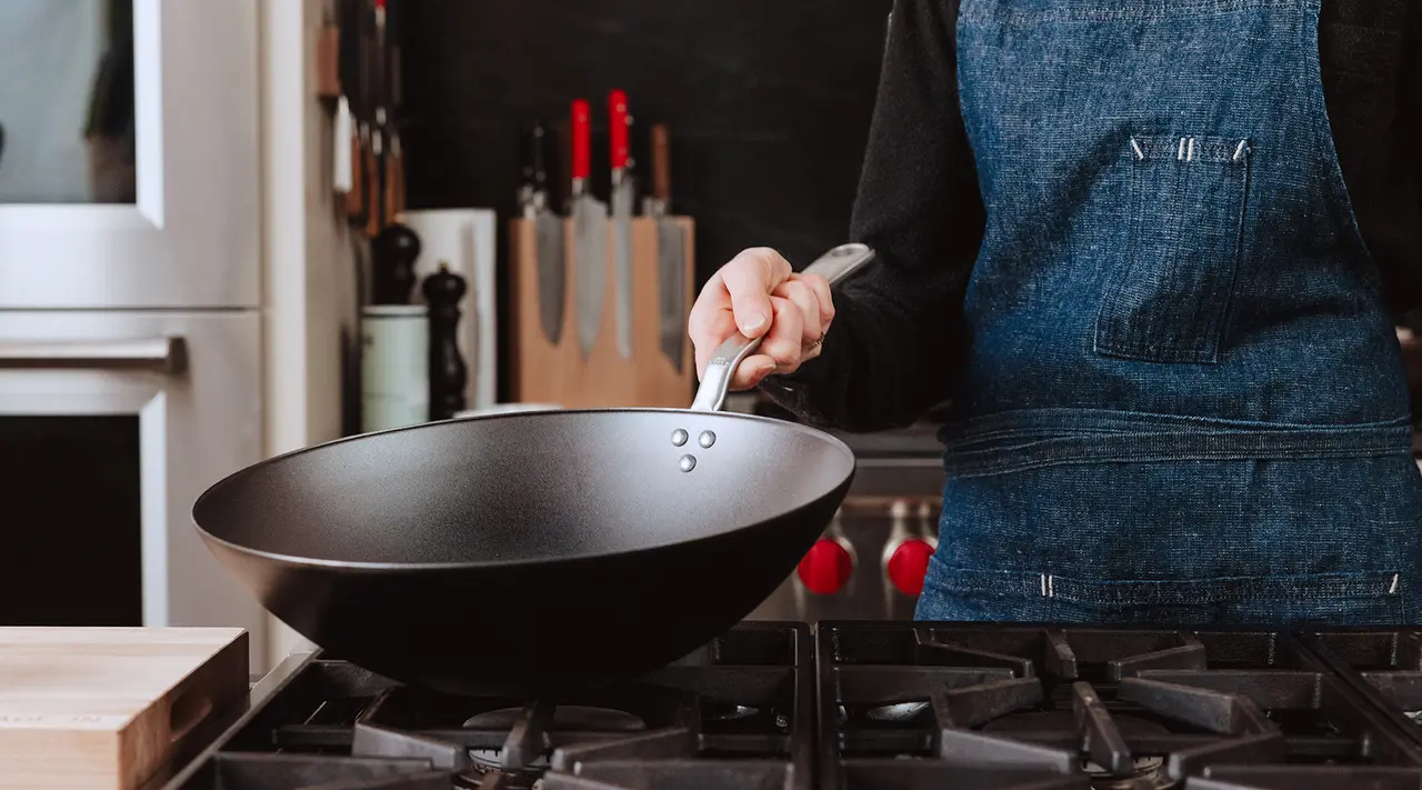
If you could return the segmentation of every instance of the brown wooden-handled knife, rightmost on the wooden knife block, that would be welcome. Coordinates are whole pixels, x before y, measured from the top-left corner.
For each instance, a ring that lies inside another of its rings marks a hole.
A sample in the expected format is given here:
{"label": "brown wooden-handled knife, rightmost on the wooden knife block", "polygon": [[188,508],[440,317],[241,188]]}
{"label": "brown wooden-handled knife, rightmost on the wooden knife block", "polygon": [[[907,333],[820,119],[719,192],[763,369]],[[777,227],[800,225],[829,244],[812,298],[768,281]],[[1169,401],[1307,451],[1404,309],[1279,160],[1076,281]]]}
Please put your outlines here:
{"label": "brown wooden-handled knife, rightmost on the wooden knife block", "polygon": [[687,236],[671,212],[671,135],[665,124],[651,127],[651,199],[657,219],[657,295],[661,353],[681,370],[687,335]]}

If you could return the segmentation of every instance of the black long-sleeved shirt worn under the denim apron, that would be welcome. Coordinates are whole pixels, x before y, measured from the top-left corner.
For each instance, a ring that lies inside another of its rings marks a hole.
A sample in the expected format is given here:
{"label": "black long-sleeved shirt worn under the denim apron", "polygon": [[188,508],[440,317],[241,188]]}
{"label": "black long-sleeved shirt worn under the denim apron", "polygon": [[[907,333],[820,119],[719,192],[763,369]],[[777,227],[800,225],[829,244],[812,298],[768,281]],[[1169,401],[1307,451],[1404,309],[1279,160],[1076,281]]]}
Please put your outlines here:
{"label": "black long-sleeved shirt worn under the denim apron", "polygon": [[[894,0],[849,232],[877,263],[836,292],[820,356],[762,383],[805,421],[903,427],[956,394],[985,223],[958,108],[957,6]],[[1318,38],[1340,165],[1401,315],[1422,306],[1422,0],[1324,0]]]}

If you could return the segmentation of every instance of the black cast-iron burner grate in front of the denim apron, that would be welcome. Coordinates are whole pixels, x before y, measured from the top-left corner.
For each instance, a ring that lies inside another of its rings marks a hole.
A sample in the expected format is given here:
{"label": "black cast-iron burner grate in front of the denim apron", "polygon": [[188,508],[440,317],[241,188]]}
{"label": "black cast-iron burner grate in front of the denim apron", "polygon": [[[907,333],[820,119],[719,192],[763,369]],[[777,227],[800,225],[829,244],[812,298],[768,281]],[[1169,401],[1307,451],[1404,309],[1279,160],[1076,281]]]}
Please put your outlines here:
{"label": "black cast-iron burner grate in front of the denim apron", "polygon": [[820,623],[816,652],[826,789],[1422,787],[1418,744],[1277,632]]}

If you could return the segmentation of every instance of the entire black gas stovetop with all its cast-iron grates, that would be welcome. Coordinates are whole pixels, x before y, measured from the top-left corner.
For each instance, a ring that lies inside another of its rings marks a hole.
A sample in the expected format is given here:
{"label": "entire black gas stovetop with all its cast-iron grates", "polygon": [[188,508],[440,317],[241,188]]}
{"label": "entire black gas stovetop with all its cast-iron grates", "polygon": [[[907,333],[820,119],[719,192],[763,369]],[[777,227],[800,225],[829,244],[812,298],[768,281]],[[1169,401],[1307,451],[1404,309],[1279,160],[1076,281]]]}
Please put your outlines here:
{"label": "entire black gas stovetop with all its cast-iron grates", "polygon": [[1419,712],[1422,626],[747,622],[556,700],[293,656],[164,790],[1422,789]]}

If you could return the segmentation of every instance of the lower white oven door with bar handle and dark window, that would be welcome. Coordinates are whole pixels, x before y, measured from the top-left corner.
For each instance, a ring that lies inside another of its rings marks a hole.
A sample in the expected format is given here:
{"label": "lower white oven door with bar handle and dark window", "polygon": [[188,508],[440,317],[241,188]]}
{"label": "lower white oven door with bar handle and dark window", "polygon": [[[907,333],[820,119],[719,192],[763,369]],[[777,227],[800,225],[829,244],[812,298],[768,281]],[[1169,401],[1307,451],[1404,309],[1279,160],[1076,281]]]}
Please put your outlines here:
{"label": "lower white oven door with bar handle and dark window", "polygon": [[266,618],[193,500],[262,458],[256,312],[0,312],[0,625]]}

